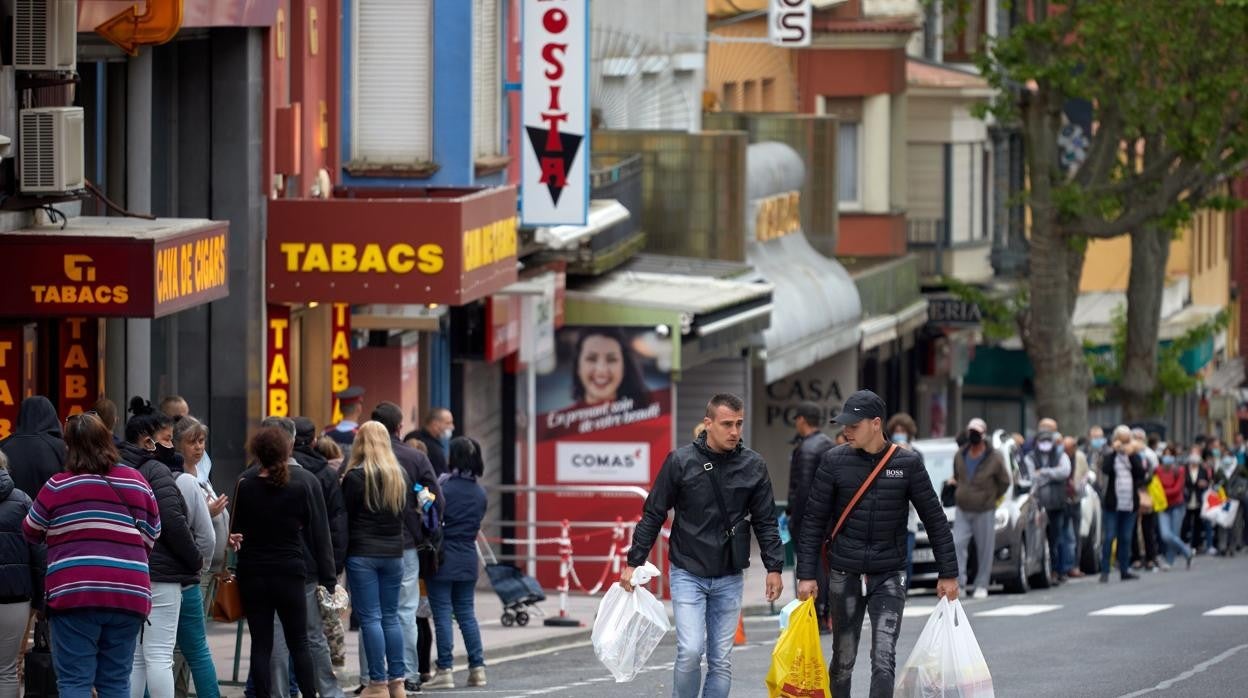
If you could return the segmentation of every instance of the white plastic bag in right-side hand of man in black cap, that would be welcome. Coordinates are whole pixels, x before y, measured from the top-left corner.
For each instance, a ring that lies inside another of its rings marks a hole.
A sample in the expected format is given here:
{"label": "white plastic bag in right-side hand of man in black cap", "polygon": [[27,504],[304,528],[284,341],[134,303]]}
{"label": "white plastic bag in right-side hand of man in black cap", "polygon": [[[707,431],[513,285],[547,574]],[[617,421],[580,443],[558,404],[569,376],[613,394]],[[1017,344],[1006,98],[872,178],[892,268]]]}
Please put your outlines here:
{"label": "white plastic bag in right-side hand of man in black cap", "polygon": [[992,676],[962,603],[941,598],[897,672],[897,698],[993,698]]}

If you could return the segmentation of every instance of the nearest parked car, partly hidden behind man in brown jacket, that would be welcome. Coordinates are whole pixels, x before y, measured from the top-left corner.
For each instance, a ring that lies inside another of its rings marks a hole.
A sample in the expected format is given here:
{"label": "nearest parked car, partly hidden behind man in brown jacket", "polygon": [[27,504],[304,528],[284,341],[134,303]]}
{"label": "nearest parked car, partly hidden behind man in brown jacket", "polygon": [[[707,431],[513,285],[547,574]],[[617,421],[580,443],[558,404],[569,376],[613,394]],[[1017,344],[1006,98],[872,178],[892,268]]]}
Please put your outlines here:
{"label": "nearest parked car, partly hidden behind man in brown jacket", "polygon": [[[1052,564],[1048,552],[1048,536],[1045,531],[1048,517],[1031,498],[1030,482],[1022,473],[1022,453],[1013,438],[1003,430],[992,433],[992,448],[1005,460],[1010,469],[1010,488],[1006,491],[996,511],[996,551],[993,553],[992,577],[995,584],[1005,584],[1006,591],[1027,592],[1031,587],[1048,588],[1052,578]],[[957,443],[952,438],[920,440],[915,450],[924,457],[932,487],[937,492],[945,489],[945,483],[953,477],[953,455]],[[945,516],[952,524],[957,508],[952,498],[941,497]],[[970,546],[967,579],[975,578],[975,542]],[[911,586],[936,584],[936,559],[922,522],[915,536],[915,564]]]}

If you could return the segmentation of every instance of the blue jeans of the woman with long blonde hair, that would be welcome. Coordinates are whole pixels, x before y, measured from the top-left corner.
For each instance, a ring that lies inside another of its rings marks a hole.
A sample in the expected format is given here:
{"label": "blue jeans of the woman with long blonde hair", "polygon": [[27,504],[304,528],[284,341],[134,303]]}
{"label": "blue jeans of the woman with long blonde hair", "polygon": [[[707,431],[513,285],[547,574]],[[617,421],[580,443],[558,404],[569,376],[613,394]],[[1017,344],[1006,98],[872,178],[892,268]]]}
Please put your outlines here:
{"label": "blue jeans of the woman with long blonde hair", "polygon": [[368,648],[368,679],[382,683],[404,678],[403,631],[398,622],[403,558],[348,557],[347,583],[359,618],[359,637]]}

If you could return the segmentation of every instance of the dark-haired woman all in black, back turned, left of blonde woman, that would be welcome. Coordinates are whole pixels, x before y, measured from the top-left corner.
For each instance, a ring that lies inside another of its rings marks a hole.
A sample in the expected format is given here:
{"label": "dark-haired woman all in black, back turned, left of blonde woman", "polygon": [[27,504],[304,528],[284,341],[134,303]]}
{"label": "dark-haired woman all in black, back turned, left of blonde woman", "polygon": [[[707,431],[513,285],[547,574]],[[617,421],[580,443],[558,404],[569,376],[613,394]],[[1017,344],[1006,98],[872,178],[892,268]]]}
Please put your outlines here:
{"label": "dark-haired woman all in black, back turned, left of blonde woman", "polygon": [[324,497],[311,473],[292,476],[293,442],[293,430],[261,427],[250,445],[257,465],[243,472],[235,496],[230,544],[238,552],[238,591],[251,631],[251,678],[258,698],[273,694],[275,613],[295,661],[300,692],[318,694],[308,648],[305,558],[313,557],[322,588],[333,593],[337,587]]}

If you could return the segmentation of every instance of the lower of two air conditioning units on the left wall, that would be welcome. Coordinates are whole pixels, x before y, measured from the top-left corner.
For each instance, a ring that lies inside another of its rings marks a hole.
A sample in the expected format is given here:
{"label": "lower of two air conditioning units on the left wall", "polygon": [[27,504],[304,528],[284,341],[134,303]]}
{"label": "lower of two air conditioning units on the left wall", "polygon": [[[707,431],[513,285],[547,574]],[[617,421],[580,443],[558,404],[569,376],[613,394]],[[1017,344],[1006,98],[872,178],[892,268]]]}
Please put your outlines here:
{"label": "lower of two air conditioning units on the left wall", "polygon": [[24,109],[17,116],[22,194],[82,189],[82,107]]}

